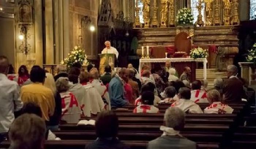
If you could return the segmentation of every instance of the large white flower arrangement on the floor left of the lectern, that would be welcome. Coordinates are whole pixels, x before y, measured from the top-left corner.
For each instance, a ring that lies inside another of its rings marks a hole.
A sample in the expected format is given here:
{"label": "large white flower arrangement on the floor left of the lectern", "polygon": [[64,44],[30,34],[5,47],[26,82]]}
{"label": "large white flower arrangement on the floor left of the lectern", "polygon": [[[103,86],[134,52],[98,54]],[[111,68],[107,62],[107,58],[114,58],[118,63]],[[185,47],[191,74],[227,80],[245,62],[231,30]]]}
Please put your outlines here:
{"label": "large white flower arrangement on the floor left of the lectern", "polygon": [[87,55],[85,51],[80,46],[75,46],[70,53],[68,53],[68,57],[61,61],[61,64],[67,65],[70,68],[74,63],[87,64]]}

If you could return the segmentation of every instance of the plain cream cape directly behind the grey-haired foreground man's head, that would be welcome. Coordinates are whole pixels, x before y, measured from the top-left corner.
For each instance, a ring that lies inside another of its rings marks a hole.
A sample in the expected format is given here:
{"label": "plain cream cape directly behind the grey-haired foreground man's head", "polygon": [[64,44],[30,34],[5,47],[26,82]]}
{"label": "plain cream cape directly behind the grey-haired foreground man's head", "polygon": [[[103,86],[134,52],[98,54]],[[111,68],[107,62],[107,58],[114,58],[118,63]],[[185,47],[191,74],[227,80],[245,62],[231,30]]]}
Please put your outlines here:
{"label": "plain cream cape directly behind the grey-haired foreground man's head", "polygon": [[171,107],[178,107],[184,112],[188,113],[203,113],[199,105],[192,100],[179,99],[171,105]]}

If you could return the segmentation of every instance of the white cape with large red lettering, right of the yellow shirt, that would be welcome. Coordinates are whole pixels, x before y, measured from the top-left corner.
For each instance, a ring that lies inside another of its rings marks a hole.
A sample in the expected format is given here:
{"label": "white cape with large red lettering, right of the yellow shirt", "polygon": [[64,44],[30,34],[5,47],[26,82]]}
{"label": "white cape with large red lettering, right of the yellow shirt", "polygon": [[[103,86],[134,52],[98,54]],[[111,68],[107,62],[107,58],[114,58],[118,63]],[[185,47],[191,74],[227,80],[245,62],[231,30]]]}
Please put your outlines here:
{"label": "white cape with large red lettering, right of the yellow shirt", "polygon": [[67,123],[78,123],[81,116],[81,109],[76,97],[71,92],[60,93],[61,97],[61,119]]}

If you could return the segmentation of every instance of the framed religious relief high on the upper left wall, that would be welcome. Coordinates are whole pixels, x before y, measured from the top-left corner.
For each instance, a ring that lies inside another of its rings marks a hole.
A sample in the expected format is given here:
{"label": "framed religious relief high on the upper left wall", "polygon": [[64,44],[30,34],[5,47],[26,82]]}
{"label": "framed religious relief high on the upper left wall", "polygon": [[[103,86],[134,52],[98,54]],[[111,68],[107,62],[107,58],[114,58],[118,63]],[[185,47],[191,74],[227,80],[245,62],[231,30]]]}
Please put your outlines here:
{"label": "framed religious relief high on the upper left wall", "polygon": [[32,24],[32,5],[30,0],[20,0],[18,2],[18,22],[19,24]]}

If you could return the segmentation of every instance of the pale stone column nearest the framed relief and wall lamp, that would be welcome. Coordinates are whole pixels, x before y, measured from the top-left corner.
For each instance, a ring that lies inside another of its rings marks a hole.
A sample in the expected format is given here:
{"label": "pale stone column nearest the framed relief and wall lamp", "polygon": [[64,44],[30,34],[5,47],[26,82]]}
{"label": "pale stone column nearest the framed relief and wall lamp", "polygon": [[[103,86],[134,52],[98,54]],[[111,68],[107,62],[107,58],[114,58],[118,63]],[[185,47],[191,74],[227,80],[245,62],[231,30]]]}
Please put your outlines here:
{"label": "pale stone column nearest the framed relief and wall lamp", "polygon": [[35,11],[35,64],[43,65],[42,1],[34,1]]}

